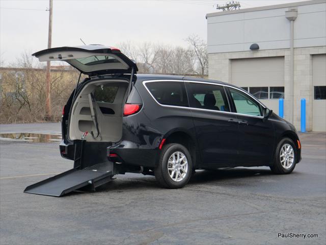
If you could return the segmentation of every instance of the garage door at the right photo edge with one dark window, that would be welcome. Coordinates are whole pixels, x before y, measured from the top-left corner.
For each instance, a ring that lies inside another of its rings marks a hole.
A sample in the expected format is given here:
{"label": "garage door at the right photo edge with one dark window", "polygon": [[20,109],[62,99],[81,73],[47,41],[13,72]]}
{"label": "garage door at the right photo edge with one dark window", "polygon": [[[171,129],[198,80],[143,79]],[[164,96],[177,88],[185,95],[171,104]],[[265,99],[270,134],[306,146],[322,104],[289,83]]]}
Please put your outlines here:
{"label": "garage door at the right photo edge with one dark window", "polygon": [[312,130],[326,131],[326,55],[312,56]]}

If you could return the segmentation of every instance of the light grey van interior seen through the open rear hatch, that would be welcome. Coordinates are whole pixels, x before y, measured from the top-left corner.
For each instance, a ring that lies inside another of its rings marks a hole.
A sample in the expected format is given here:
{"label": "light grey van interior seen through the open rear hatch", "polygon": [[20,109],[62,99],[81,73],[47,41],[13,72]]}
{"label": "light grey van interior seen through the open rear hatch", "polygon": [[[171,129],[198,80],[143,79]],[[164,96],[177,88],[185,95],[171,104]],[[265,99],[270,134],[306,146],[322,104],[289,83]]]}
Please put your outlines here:
{"label": "light grey van interior seen through the open rear hatch", "polygon": [[74,101],[69,118],[71,140],[116,142],[122,137],[126,80],[100,80],[86,84]]}

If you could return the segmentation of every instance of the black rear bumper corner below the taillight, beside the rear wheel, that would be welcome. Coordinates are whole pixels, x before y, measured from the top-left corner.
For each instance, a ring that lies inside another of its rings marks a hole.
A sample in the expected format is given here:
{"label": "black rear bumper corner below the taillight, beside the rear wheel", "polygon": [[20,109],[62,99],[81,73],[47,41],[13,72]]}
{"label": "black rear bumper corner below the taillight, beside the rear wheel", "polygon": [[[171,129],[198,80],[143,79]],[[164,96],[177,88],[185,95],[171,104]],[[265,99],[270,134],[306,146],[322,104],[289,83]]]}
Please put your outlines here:
{"label": "black rear bumper corner below the taillight, beside the rear wheel", "polygon": [[121,142],[118,145],[107,148],[107,159],[113,162],[125,164],[155,167],[158,162],[158,149],[139,148],[133,143]]}

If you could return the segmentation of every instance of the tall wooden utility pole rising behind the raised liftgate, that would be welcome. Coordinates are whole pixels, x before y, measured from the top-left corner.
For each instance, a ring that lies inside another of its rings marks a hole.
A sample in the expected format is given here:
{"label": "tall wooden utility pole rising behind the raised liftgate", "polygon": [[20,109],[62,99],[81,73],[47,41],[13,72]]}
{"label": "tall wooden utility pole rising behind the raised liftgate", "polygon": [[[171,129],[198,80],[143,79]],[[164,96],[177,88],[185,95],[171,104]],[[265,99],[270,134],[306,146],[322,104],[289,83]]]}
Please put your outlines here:
{"label": "tall wooden utility pole rising behind the raised liftgate", "polygon": [[[51,48],[52,42],[52,9],[53,0],[49,0],[49,30],[47,38],[47,48]],[[45,120],[52,120],[52,110],[51,110],[51,81],[50,81],[50,61],[46,62],[46,115]]]}

